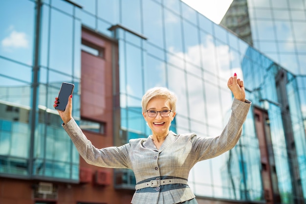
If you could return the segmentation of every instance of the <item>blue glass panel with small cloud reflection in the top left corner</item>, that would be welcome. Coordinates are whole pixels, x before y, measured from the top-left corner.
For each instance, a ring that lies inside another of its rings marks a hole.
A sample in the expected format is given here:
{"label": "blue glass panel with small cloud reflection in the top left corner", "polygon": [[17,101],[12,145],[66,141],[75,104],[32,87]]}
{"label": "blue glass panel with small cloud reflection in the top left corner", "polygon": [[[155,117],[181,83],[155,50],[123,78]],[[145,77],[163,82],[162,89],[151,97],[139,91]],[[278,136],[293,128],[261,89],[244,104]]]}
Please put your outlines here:
{"label": "blue glass panel with small cloud reflection in the top left corner", "polygon": [[[32,65],[34,8],[35,3],[29,0],[1,2],[0,56],[2,58],[5,57],[26,65]],[[21,19],[22,21],[20,21]]]}

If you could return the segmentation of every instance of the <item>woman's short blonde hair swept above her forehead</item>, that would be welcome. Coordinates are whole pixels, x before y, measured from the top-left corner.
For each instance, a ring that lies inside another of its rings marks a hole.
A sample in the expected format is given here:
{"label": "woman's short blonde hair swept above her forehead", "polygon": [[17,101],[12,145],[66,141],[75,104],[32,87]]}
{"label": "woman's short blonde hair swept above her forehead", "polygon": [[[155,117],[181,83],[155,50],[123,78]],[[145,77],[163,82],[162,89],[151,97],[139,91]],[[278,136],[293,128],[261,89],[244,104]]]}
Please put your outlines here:
{"label": "woman's short blonde hair swept above her forehead", "polygon": [[149,89],[142,97],[141,106],[142,106],[142,113],[147,111],[148,103],[153,98],[165,98],[169,104],[170,109],[173,112],[176,112],[176,95],[174,92],[169,91],[165,87],[154,87]]}

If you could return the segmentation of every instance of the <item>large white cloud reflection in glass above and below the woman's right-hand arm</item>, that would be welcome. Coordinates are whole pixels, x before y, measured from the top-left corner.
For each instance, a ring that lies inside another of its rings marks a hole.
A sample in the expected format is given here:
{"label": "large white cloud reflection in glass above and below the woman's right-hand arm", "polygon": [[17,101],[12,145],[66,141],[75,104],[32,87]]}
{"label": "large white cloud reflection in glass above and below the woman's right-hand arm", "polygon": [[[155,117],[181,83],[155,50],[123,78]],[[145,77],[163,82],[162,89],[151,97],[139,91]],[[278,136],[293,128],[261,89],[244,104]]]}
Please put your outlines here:
{"label": "large white cloud reflection in glass above and below the woman's right-hand arm", "polygon": [[[173,55],[169,55],[168,58],[168,75],[174,79],[169,80],[169,88],[178,97],[177,133],[190,131],[195,132],[197,136],[217,136],[224,128],[223,121],[227,122],[231,108],[232,95],[227,88],[227,79],[234,72],[243,79],[242,70],[237,63],[235,68],[231,67],[231,61],[239,59],[236,59],[237,55],[231,52],[228,45],[215,45],[211,36],[207,36],[202,42],[200,45],[186,47],[185,53],[170,49]],[[187,64],[179,59],[185,59]],[[204,70],[200,68],[201,65]],[[187,73],[184,72],[184,68]],[[191,119],[189,124],[186,123],[187,117]],[[228,153],[225,153],[196,164],[189,180],[197,195],[222,195],[222,189],[212,188],[212,185],[224,185],[219,172],[227,158]],[[214,169],[214,173],[211,172],[211,168]],[[211,177],[212,180],[209,179]]]}

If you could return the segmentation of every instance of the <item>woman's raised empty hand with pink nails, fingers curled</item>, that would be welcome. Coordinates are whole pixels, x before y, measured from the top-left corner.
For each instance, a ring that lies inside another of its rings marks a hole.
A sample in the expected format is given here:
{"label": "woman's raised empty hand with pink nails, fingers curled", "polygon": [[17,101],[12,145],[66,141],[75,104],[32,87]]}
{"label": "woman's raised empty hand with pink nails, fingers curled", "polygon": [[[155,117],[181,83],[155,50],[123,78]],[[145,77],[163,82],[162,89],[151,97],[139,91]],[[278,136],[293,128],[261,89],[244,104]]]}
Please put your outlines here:
{"label": "woman's raised empty hand with pink nails, fingers curled", "polygon": [[232,91],[234,97],[240,101],[245,100],[245,91],[244,91],[244,85],[243,81],[240,79],[237,79],[237,74],[234,74],[234,77],[231,76],[228,79],[227,87]]}

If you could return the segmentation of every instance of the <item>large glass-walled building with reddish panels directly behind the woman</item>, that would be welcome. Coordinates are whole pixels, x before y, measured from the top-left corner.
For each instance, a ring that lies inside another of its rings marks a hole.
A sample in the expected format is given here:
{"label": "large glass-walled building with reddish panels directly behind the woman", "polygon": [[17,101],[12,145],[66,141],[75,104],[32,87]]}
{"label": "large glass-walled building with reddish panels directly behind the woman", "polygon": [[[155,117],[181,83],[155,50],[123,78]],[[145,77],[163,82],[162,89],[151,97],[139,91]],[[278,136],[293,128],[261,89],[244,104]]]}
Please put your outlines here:
{"label": "large glass-walled building with reddish panels directly behind the woman", "polygon": [[151,134],[141,98],[156,86],[177,95],[171,130],[218,136],[234,72],[252,109],[236,147],[191,170],[198,203],[306,202],[305,76],[182,1],[10,0],[0,18],[1,204],[130,203],[131,170],[87,164],[61,127],[62,82],[103,148]]}

